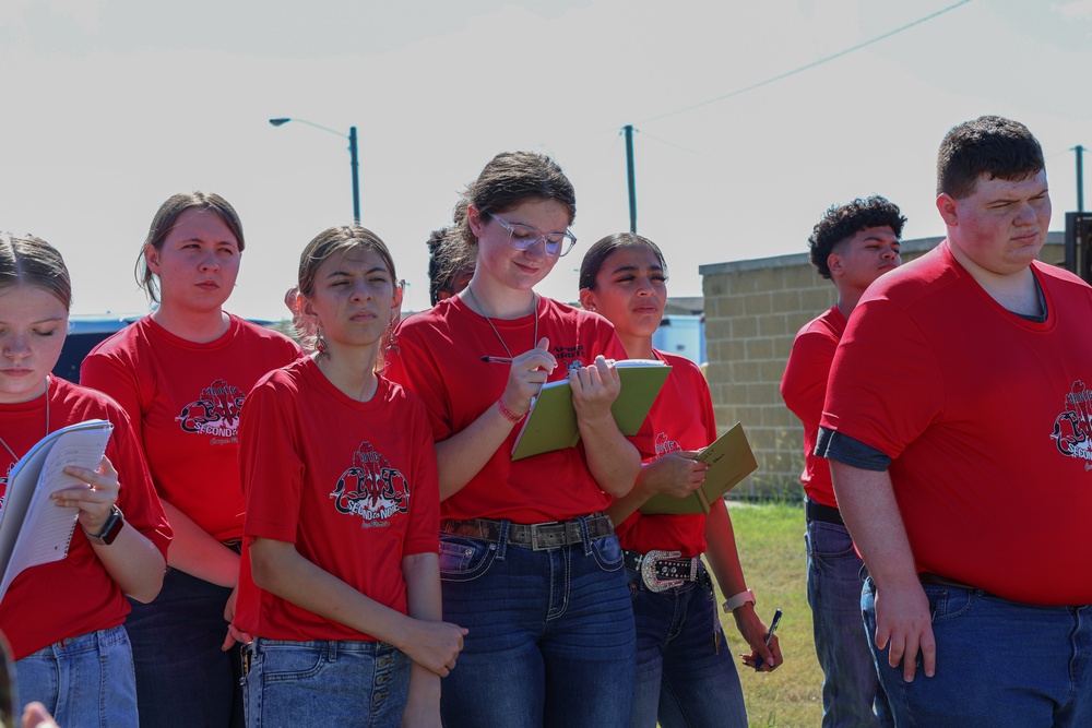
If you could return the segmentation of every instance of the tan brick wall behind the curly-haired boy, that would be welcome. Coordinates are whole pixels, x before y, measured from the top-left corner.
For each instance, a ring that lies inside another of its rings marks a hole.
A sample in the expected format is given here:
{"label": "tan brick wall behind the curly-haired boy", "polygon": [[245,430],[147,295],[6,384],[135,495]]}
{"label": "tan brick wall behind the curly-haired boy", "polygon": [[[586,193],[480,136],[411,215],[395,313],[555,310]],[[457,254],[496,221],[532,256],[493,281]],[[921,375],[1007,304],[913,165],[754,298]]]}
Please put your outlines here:
{"label": "tan brick wall behind the curly-haired boy", "polygon": [[[942,238],[904,240],[903,261]],[[1040,259],[1060,264],[1063,234],[1051,232]],[[736,497],[799,498],[804,467],[800,421],[781,399],[779,385],[796,332],[834,305],[830,281],[807,253],[702,265],[705,297],[705,375],[720,431],[744,423],[759,469],[736,486]]]}

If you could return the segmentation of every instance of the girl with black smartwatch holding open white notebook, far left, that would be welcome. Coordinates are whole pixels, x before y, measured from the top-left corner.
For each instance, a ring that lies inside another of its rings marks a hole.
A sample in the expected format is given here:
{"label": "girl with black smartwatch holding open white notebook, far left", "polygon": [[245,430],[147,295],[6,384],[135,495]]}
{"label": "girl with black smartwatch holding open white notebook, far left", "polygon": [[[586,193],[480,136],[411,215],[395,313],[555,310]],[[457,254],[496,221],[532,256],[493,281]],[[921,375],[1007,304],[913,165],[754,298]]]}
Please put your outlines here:
{"label": "girl with black smartwatch holding open white notebook, far left", "polygon": [[0,494],[47,432],[88,419],[114,431],[97,470],[69,467],[85,486],[59,491],[79,509],[66,558],[32,566],[0,601],[22,706],[44,703],[62,725],[136,725],[126,595],[151,601],[163,583],[170,529],[129,418],[109,397],[49,374],[68,331],[64,262],[37,238],[0,236]]}

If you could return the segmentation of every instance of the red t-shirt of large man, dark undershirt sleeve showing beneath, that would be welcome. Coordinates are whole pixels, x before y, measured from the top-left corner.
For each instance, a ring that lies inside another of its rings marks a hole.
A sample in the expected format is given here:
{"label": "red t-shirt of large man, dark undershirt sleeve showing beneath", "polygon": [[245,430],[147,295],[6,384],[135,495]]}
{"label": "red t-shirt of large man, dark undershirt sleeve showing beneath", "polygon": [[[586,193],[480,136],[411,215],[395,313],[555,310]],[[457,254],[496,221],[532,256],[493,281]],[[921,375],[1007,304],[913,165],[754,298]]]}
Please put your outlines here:
{"label": "red t-shirt of large man, dark undershirt sleeve showing beneath", "polygon": [[1014,601],[1092,602],[1092,288],[1032,264],[1047,318],[1001,308],[947,243],[854,310],[822,427],[894,458],[917,569]]}

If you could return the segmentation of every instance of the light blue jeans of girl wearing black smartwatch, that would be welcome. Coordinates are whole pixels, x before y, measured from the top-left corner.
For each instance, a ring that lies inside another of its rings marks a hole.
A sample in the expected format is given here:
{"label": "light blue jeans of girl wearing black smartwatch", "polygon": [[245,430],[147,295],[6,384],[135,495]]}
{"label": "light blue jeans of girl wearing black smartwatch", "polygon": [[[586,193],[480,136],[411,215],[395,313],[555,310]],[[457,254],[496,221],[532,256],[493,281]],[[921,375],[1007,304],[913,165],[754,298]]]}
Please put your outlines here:
{"label": "light blue jeans of girl wearing black smartwatch", "polygon": [[15,661],[17,716],[38,701],[64,728],[136,728],[136,685],[124,629],[88,632]]}

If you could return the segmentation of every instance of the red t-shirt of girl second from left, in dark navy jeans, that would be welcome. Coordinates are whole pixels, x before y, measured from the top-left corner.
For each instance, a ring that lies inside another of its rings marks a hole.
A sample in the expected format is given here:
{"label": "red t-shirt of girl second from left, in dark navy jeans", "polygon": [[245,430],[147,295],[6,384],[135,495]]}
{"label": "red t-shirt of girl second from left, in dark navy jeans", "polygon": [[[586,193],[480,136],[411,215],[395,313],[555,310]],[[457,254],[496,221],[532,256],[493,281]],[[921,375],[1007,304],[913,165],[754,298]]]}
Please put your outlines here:
{"label": "red t-shirt of girl second from left, in dark navy jeans", "polygon": [[206,344],[144,317],[92,349],[80,381],[129,413],[159,496],[223,541],[242,537],[239,409],[254,382],[299,355],[286,336],[234,315]]}

